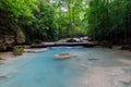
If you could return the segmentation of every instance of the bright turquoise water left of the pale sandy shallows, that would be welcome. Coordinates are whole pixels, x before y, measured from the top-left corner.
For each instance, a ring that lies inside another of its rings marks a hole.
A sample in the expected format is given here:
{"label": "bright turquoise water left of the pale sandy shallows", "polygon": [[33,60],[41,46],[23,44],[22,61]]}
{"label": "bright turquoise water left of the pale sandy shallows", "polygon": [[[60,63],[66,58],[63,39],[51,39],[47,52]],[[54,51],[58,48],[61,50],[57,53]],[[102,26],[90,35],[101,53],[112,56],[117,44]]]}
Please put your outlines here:
{"label": "bright turquoise water left of the pale sandy shallows", "polygon": [[74,50],[52,48],[19,57],[20,60],[1,66],[1,71],[8,74],[1,76],[0,87],[81,87],[79,79],[84,77],[84,70],[79,69],[71,59],[55,60],[55,54],[68,51]]}

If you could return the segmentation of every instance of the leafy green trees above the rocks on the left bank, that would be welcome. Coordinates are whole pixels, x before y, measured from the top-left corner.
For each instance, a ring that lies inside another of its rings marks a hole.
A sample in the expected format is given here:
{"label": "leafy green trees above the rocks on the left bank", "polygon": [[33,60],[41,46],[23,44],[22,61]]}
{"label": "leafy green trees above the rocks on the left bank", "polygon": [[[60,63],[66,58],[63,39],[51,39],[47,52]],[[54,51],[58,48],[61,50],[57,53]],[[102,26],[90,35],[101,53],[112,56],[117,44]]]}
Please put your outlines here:
{"label": "leafy green trees above the rocks on the left bank", "polygon": [[53,9],[44,0],[0,0],[0,29],[12,32],[16,40],[24,40],[22,33],[26,42],[53,39]]}

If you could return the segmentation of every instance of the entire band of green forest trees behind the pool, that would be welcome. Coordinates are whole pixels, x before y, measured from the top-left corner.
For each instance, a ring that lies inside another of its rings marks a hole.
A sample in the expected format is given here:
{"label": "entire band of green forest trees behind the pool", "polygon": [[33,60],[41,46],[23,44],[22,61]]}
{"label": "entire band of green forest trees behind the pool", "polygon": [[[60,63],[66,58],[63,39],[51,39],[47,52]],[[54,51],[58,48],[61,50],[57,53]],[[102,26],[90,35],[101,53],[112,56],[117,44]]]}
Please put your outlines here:
{"label": "entire band of green forest trees behind the pool", "polygon": [[[17,44],[91,36],[129,42],[131,0],[0,0],[0,34]],[[1,37],[2,37],[1,36]]]}

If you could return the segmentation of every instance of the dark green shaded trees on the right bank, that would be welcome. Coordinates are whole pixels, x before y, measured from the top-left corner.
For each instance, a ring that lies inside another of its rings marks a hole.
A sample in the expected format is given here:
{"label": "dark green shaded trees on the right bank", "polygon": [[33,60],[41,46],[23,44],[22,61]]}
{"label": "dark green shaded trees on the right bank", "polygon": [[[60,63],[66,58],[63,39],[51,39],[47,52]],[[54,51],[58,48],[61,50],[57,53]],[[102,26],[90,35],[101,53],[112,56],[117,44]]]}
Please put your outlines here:
{"label": "dark green shaded trees on the right bank", "polygon": [[97,40],[110,40],[116,44],[129,42],[131,39],[130,3],[131,0],[91,1],[84,20],[88,34]]}

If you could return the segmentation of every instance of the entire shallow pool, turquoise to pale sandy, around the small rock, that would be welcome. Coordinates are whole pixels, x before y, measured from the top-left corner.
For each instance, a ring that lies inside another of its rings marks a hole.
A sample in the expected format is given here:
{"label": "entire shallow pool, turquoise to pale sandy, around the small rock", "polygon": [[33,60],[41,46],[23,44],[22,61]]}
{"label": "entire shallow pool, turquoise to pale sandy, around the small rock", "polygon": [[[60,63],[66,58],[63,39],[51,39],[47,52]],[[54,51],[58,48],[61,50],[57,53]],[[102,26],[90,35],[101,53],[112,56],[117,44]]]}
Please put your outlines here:
{"label": "entire shallow pool, turquoise to pale sandy, around the small rock", "polygon": [[[55,54],[72,53],[66,60]],[[0,87],[131,87],[131,52],[53,47],[0,64]]]}

